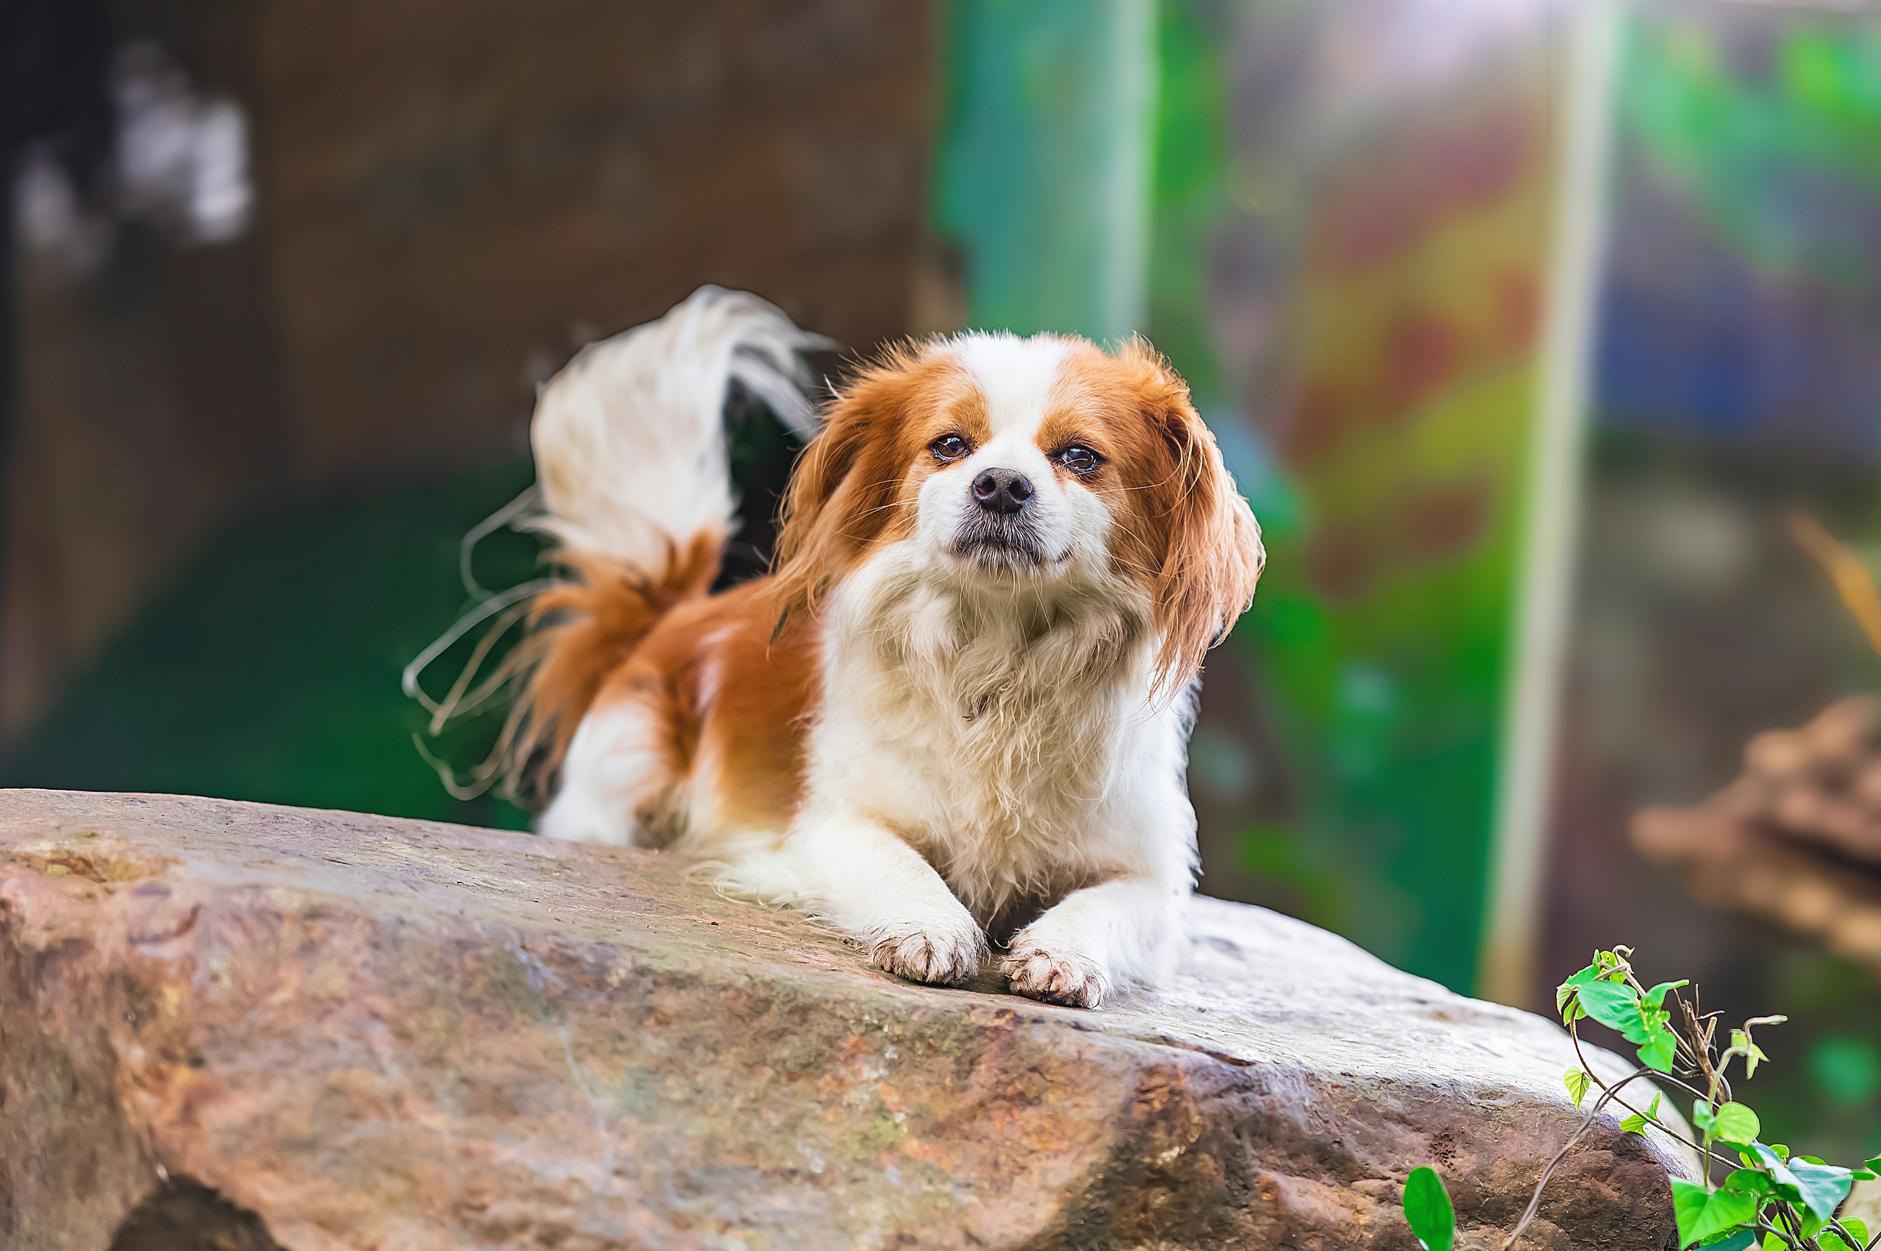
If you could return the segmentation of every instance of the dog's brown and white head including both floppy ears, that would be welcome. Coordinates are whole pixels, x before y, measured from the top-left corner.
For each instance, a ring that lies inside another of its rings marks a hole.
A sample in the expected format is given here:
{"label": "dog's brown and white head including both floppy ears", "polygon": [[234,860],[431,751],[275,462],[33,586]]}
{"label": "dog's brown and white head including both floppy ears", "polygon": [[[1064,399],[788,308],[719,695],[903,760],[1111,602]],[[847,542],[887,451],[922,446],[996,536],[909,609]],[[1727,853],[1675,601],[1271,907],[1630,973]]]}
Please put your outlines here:
{"label": "dog's brown and white head including both floppy ears", "polygon": [[1247,608],[1260,527],[1189,388],[1146,342],[961,335],[890,352],[835,399],[784,500],[784,613],[907,544],[963,585],[1104,587],[1155,606],[1185,683]]}

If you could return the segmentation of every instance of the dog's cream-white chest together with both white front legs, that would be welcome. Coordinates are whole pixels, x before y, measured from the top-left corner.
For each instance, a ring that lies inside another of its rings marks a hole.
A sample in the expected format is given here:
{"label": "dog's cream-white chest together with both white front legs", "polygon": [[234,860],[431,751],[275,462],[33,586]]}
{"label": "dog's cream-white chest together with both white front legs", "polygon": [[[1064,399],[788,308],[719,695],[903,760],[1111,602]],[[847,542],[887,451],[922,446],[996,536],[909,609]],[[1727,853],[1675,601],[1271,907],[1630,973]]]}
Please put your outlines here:
{"label": "dog's cream-white chest together with both white front legs", "polygon": [[957,980],[924,961],[976,967],[978,922],[1067,888],[1012,942],[1021,990],[1095,1006],[1170,956],[1194,873],[1187,704],[1151,704],[1140,593],[1065,583],[986,587],[916,538],[833,596],[782,860],[895,973]]}

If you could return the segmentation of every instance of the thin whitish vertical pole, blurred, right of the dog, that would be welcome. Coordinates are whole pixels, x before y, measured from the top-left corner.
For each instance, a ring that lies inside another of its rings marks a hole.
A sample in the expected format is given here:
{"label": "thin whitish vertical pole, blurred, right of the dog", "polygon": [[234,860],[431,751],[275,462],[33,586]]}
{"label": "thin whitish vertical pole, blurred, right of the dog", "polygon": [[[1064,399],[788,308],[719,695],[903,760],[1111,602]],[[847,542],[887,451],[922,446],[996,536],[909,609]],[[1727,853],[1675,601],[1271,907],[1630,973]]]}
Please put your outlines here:
{"label": "thin whitish vertical pole, blurred, right of the dog", "polygon": [[1486,999],[1524,1005],[1535,976],[1561,681],[1584,489],[1588,374],[1599,297],[1616,0],[1571,17],[1557,117],[1556,228],[1529,436],[1514,649],[1497,751],[1495,824],[1478,959]]}

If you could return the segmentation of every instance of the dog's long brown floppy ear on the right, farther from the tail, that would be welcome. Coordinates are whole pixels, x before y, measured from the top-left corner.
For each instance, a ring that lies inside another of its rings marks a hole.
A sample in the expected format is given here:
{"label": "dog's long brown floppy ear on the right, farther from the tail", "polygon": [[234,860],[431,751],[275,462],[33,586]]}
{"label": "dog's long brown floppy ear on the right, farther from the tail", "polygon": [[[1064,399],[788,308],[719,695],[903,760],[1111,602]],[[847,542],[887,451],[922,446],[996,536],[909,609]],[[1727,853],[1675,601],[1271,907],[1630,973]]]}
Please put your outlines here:
{"label": "dog's long brown floppy ear on the right, farther from the tail", "polygon": [[1253,604],[1268,553],[1189,386],[1142,339],[1125,344],[1119,357],[1140,371],[1144,416],[1162,453],[1162,472],[1146,499],[1151,559],[1161,562],[1151,570],[1162,636],[1157,689],[1179,690]]}

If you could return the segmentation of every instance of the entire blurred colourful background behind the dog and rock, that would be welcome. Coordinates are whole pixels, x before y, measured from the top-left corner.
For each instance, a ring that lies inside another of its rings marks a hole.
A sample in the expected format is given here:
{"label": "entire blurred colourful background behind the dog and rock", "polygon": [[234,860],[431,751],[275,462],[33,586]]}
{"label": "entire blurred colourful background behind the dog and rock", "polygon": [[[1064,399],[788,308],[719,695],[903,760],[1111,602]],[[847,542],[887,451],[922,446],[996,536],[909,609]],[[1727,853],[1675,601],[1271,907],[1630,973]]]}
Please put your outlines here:
{"label": "entire blurred colourful background behind the dog and rock", "polygon": [[534,576],[461,540],[576,346],[702,282],[1144,331],[1272,555],[1202,888],[1539,1008],[1631,942],[1791,1016],[1766,1136],[1881,1151],[1881,17],[6,0],[0,58],[0,781],[525,828],[401,670]]}

